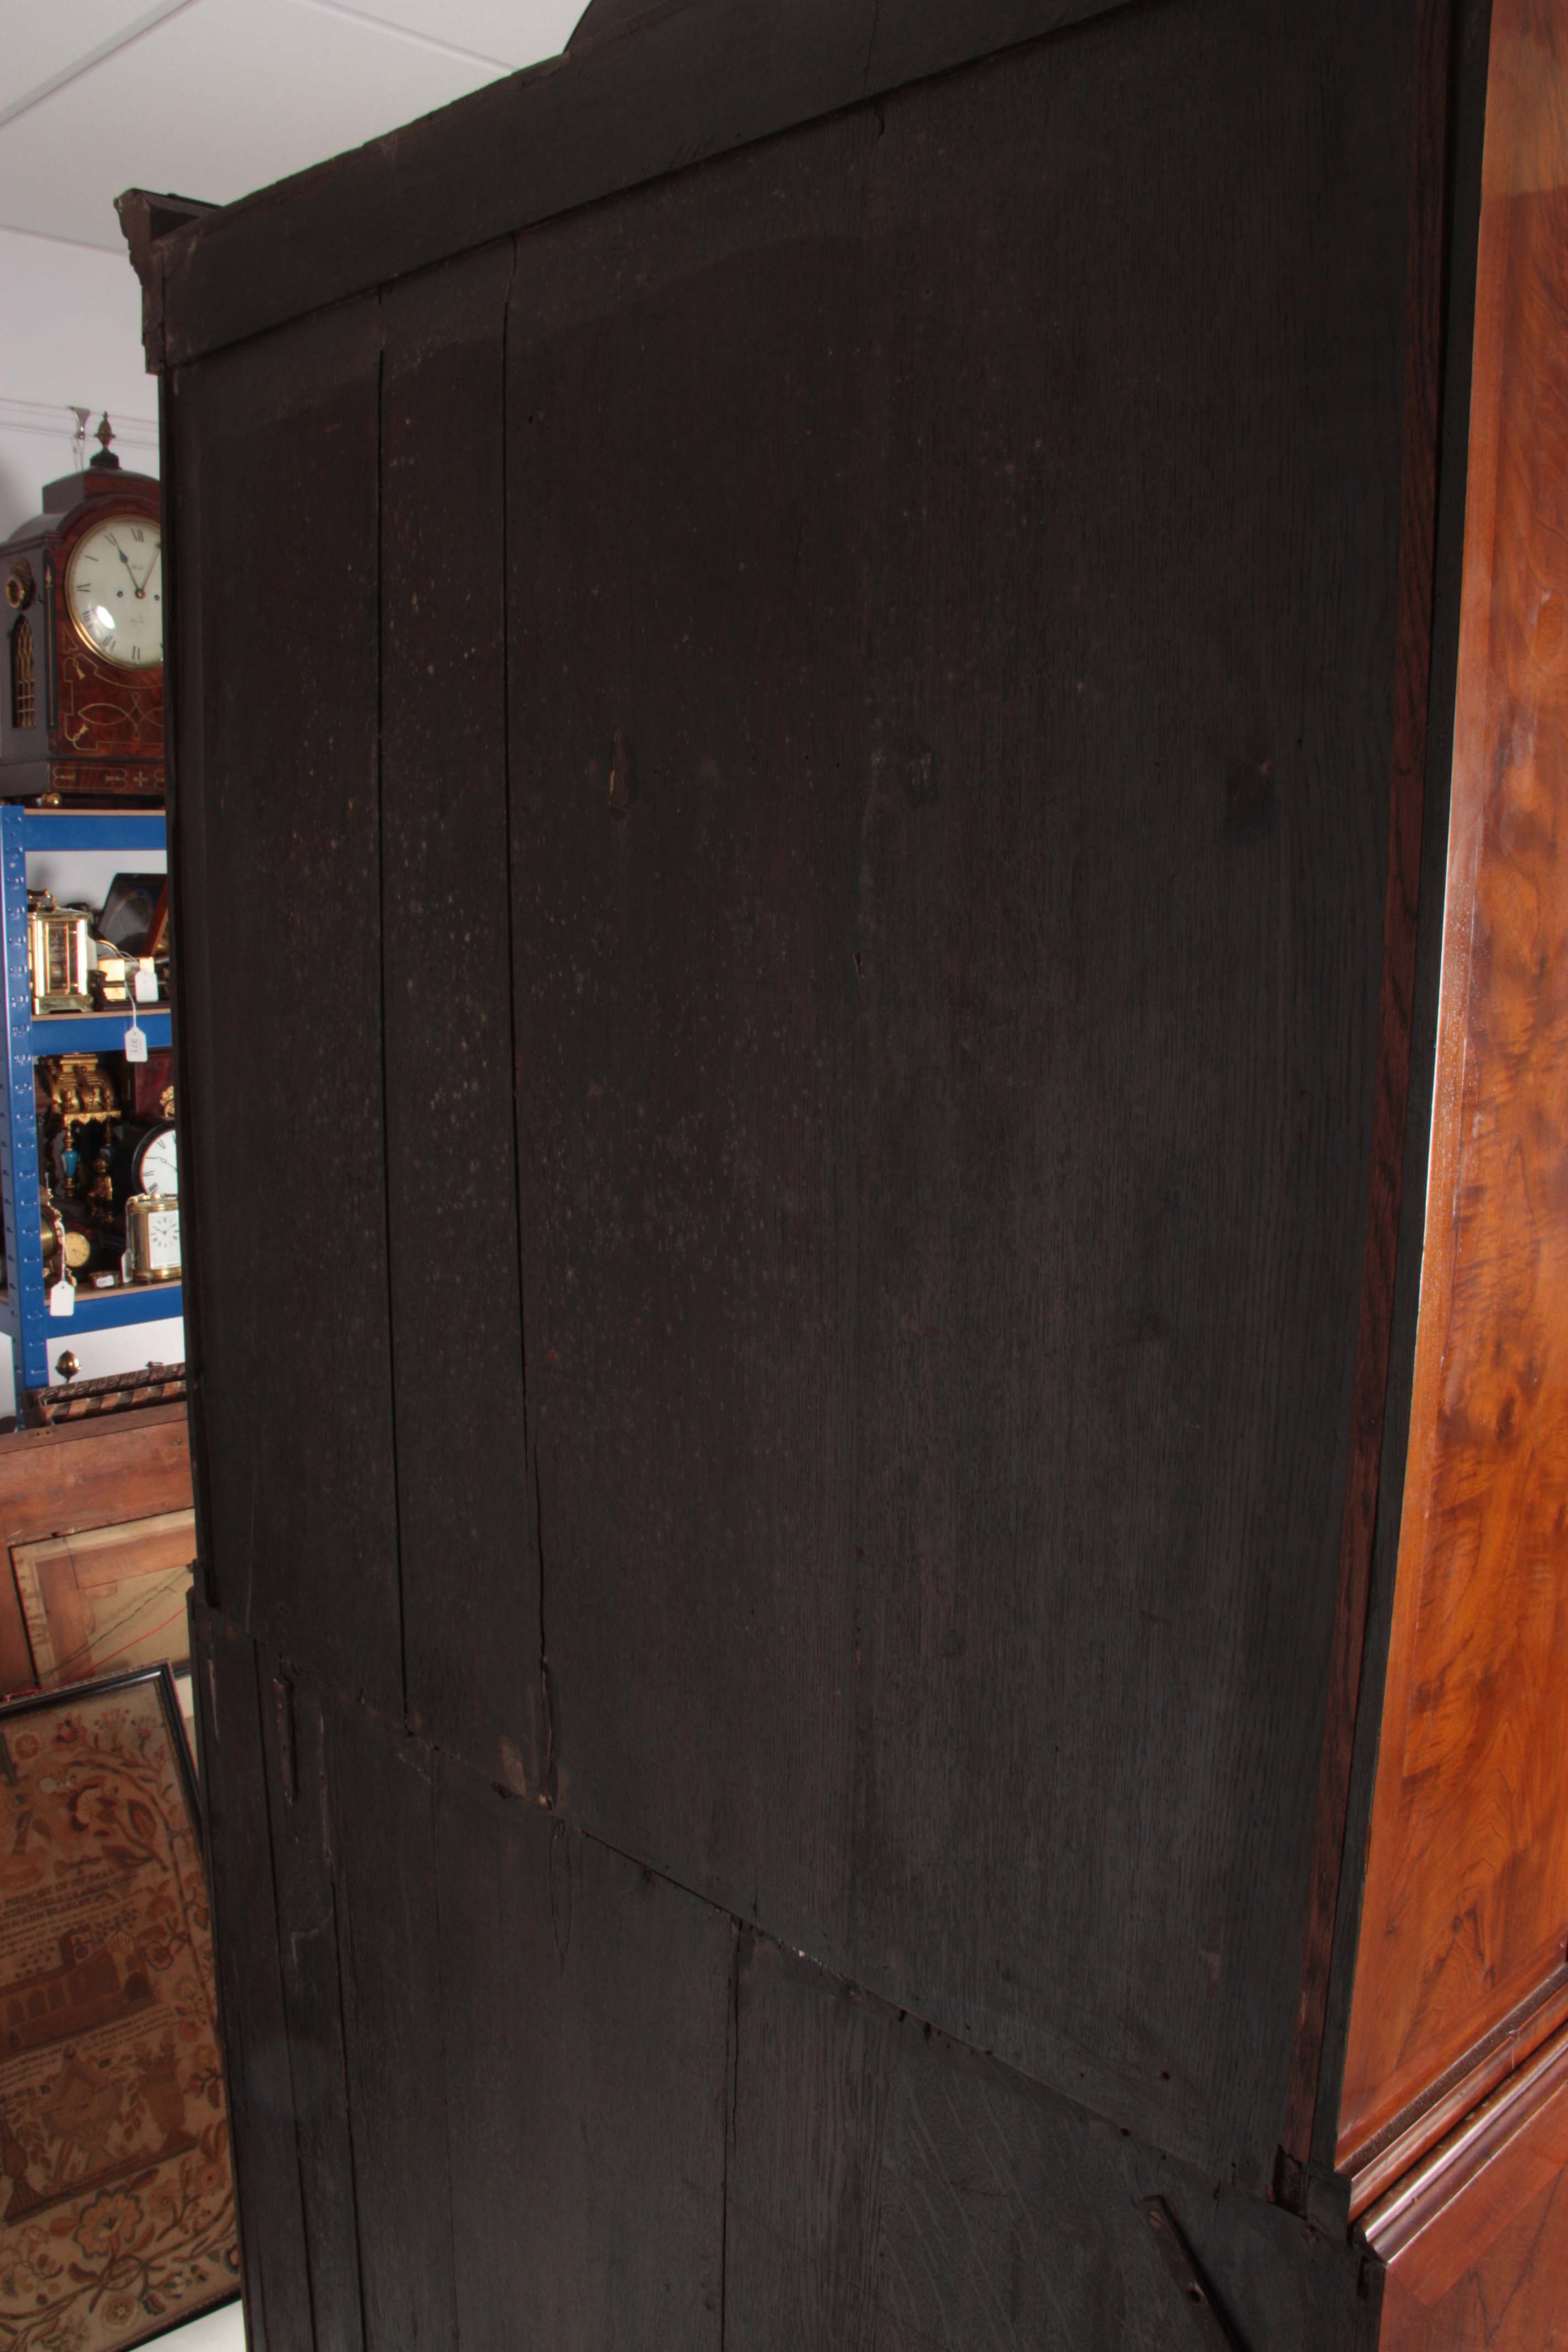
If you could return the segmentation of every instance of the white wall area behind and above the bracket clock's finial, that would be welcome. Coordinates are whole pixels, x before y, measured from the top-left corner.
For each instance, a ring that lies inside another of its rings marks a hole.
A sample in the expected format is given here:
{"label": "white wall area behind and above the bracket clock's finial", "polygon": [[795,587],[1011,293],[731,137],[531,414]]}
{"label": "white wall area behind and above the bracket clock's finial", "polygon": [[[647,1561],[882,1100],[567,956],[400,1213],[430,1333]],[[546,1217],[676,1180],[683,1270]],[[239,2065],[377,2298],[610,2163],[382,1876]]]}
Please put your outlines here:
{"label": "white wall area behind and above the bracket clock's finial", "polygon": [[120,463],[158,473],[136,273],[125,254],[0,228],[0,539],[38,513],[45,482],[82,463],[75,407],[92,409],[89,433],[108,409]]}

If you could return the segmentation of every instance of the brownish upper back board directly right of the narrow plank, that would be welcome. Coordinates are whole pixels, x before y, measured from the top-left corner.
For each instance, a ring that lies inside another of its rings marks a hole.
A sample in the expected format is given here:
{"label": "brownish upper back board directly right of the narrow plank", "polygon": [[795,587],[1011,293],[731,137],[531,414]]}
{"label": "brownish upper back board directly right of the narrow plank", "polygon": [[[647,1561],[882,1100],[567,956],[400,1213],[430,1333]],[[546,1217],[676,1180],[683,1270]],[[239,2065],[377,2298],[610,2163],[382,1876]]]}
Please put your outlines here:
{"label": "brownish upper back board directly right of the narrow plank", "polygon": [[853,682],[827,680],[865,626],[875,139],[849,118],[592,238],[524,242],[508,395],[524,1338],[562,1809],[835,1955],[863,734]]}

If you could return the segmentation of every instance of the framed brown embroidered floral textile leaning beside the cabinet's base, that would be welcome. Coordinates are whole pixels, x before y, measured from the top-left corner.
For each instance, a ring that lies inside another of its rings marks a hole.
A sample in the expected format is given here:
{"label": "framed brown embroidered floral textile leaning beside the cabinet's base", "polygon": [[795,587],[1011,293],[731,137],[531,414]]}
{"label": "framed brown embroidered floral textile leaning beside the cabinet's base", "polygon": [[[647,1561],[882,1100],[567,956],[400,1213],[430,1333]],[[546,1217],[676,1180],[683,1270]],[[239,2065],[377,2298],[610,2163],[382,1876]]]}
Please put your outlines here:
{"label": "framed brown embroidered floral textile leaning beside the cabinet's base", "polygon": [[207,1884],[155,1675],[0,1710],[0,2347],[237,2286]]}

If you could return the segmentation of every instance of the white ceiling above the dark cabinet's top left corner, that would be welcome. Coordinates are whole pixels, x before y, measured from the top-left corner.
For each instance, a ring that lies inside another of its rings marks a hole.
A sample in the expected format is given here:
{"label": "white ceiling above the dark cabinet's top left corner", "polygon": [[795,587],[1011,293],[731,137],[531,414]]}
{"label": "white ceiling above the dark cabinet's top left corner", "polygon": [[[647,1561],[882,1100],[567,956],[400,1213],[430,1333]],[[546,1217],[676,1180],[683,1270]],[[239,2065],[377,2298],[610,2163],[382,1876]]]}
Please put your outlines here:
{"label": "white ceiling above the dark cabinet's top left corner", "polygon": [[555,56],[583,0],[0,0],[0,228],[125,252],[122,188],[228,205]]}

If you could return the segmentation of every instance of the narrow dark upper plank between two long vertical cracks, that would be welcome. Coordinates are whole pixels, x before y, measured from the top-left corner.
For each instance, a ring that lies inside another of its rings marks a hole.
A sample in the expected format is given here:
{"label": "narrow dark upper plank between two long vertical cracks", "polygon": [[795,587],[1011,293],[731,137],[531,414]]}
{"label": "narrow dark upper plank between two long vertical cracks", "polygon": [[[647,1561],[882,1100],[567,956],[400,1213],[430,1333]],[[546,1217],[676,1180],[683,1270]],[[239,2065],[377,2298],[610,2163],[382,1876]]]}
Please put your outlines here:
{"label": "narrow dark upper plank between two long vertical cracks", "polygon": [[510,278],[508,242],[395,287],[383,308],[381,971],[409,1717],[440,1748],[536,1792],[538,1571],[505,990]]}

